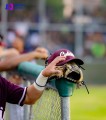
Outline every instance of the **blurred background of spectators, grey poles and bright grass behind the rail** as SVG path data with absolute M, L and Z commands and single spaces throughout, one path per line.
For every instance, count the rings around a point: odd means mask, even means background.
M 7 3 L 24 7 L 8 11 Z M 106 120 L 106 0 L 1 0 L 0 33 L 7 48 L 19 36 L 24 52 L 67 48 L 83 59 L 90 95 L 75 91 L 72 120 Z

